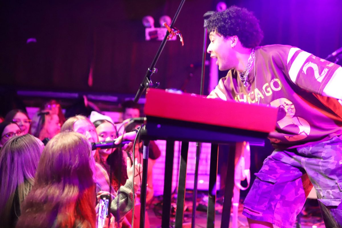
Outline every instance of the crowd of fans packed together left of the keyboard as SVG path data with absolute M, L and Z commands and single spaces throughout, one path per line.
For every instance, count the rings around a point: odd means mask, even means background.
M 125 104 L 123 123 L 94 111 L 90 118 L 66 119 L 55 100 L 44 104 L 32 119 L 25 110 L 9 111 L 0 123 L 2 227 L 95 228 L 101 195 L 111 199 L 105 227 L 131 227 L 133 207 L 134 213 L 140 213 L 140 153 L 131 157 L 132 142 L 121 148 L 91 149 L 91 143 L 134 140 L 134 128 L 123 130 L 128 122 L 124 118 L 139 117 L 140 110 Z M 135 146 L 139 151 L 141 145 Z M 160 156 L 158 147 L 152 147 L 147 202 L 153 197 L 153 161 Z M 134 220 L 134 227 L 139 227 L 139 216 Z M 148 227 L 148 216 L 145 220 Z

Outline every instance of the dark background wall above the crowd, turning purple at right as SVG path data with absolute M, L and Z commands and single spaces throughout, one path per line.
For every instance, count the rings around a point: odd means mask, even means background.
M 81 2 L 81 3 L 80 3 Z M 265 44 L 290 44 L 326 57 L 342 46 L 339 0 L 225 1 L 253 11 Z M 135 94 L 160 45 L 141 23 L 174 16 L 180 0 L 7 1 L 1 5 L 0 83 L 15 89 Z M 186 0 L 175 23 L 185 45 L 168 41 L 153 81 L 199 93 L 203 14 L 217 0 Z M 26 43 L 34 37 L 36 43 Z M 93 85 L 88 85 L 93 64 Z M 194 68 L 190 68 L 194 64 Z M 221 73 L 221 76 L 224 72 Z

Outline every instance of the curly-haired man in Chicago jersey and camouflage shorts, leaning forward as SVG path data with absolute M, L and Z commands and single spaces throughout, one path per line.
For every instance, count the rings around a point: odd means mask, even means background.
M 278 107 L 275 150 L 244 202 L 250 227 L 293 227 L 312 186 L 326 227 L 342 227 L 341 66 L 292 46 L 258 46 L 258 20 L 236 6 L 206 27 L 210 57 L 229 70 L 208 97 Z

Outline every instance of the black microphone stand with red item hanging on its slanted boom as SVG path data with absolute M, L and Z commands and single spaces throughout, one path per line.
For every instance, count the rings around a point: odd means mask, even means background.
M 182 0 L 173 19 L 170 24 L 170 28 L 173 27 L 174 23 L 176 22 L 176 19 L 184 5 L 185 0 Z M 139 89 L 134 97 L 133 102 L 137 103 L 143 94 L 144 90 L 149 88 L 149 87 L 158 87 L 159 82 L 153 83 L 151 80 L 151 76 L 153 73 L 157 72 L 157 68 L 155 68 L 156 63 L 159 59 L 159 56 L 166 44 L 166 41 L 170 35 L 170 32 L 167 31 L 166 35 L 161 42 L 159 49 L 157 51 L 156 56 L 154 57 L 150 67 L 146 71 L 146 75 L 141 82 Z M 149 140 L 143 140 L 143 177 L 142 177 L 142 184 L 141 184 L 141 195 L 140 195 L 140 201 L 141 201 L 141 208 L 140 208 L 140 228 L 145 227 L 145 211 L 146 211 L 146 186 L 147 186 L 147 163 L 148 163 L 148 146 L 149 146 Z

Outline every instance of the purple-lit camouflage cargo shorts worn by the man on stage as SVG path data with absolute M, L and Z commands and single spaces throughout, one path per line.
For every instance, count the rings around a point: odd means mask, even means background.
M 342 136 L 265 159 L 243 214 L 281 228 L 293 227 L 312 186 L 326 227 L 342 227 Z

